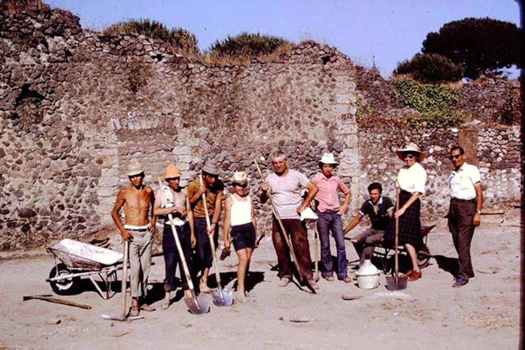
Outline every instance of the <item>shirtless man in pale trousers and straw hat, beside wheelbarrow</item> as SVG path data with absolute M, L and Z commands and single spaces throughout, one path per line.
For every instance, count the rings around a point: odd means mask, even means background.
M 151 213 L 151 223 L 148 219 L 150 204 L 155 199 L 153 189 L 144 186 L 144 170 L 139 163 L 129 167 L 128 177 L 131 185 L 120 189 L 115 205 L 111 210 L 111 217 L 117 225 L 122 239 L 130 242 L 130 279 L 131 279 L 131 312 L 130 316 L 139 315 L 139 298 L 145 296 L 148 285 L 148 274 L 151 266 L 151 248 L 153 233 L 155 232 L 155 216 Z M 119 217 L 120 208 L 124 207 L 125 222 Z M 122 281 L 126 283 L 127 281 Z M 140 309 L 155 310 L 144 300 Z

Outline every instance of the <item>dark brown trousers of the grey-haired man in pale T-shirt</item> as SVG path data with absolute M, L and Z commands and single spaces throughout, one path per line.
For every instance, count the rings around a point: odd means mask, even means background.
M 301 275 L 308 280 L 313 278 L 312 258 L 310 257 L 310 246 L 308 244 L 308 233 L 306 226 L 299 219 L 282 219 L 282 226 L 285 227 L 286 233 L 292 242 L 293 251 L 296 254 L 297 262 Z M 285 237 L 282 235 L 279 222 L 274 217 L 272 225 L 272 240 L 274 241 L 275 252 L 277 253 L 277 262 L 279 263 L 280 278 L 291 278 L 291 260 L 290 250 L 286 244 Z

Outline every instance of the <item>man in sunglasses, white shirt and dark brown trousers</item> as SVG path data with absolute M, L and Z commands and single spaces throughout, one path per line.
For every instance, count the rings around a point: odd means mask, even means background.
M 465 162 L 465 151 L 460 146 L 450 149 L 450 161 L 454 169 L 448 179 L 450 207 L 448 210 L 448 229 L 452 234 L 454 247 L 458 252 L 459 270 L 452 287 L 463 287 L 474 278 L 470 260 L 470 242 L 474 228 L 481 220 L 483 192 L 481 177 L 476 166 Z

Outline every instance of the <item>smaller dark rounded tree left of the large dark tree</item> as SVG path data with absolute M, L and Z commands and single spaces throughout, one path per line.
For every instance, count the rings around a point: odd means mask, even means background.
M 416 54 L 411 60 L 397 64 L 394 75 L 406 74 L 424 83 L 458 81 L 463 67 L 438 54 Z

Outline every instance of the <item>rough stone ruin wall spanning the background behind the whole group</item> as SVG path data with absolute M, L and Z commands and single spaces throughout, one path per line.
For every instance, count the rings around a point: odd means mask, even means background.
M 110 210 L 132 161 L 144 164 L 145 183 L 156 187 L 167 164 L 183 171 L 184 185 L 209 158 L 227 185 L 234 171 L 246 169 L 256 192 L 255 157 L 280 149 L 291 167 L 311 176 L 320 155 L 331 151 L 352 190 L 354 213 L 373 174 L 392 182 L 400 165 L 392 147 L 413 139 L 429 150 L 424 166 L 436 178 L 425 215 L 442 211 L 445 151 L 463 131 L 408 137 L 381 118 L 358 125 L 360 103 L 381 115 L 403 108 L 387 81 L 334 48 L 308 42 L 271 62 L 211 65 L 172 55 L 143 36 L 82 30 L 70 13 L 43 10 L 0 13 L 0 49 L 1 250 L 114 230 Z M 515 200 L 515 191 L 498 184 L 511 187 L 519 172 L 521 160 L 505 157 L 519 152 L 519 130 L 476 130 L 471 147 L 489 203 Z M 270 171 L 268 162 L 261 165 Z M 267 228 L 269 208 L 256 204 Z

